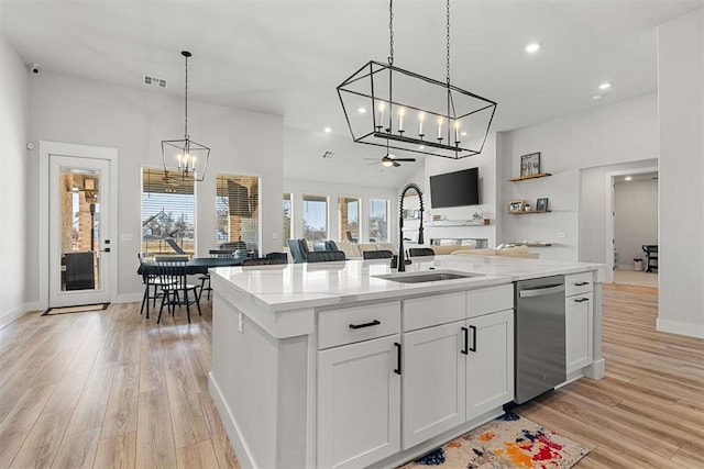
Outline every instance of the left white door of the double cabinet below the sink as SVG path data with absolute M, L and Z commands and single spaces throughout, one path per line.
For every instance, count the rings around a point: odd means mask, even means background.
M 463 325 L 404 334 L 404 449 L 464 423 Z

